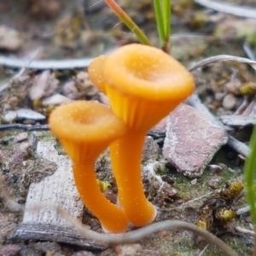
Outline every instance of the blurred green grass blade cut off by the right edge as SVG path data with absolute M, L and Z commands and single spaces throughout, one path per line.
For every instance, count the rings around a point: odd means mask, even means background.
M 247 195 L 247 203 L 250 207 L 251 216 L 253 219 L 253 225 L 256 225 L 256 197 L 255 197 L 255 172 L 256 172 L 256 125 L 253 129 L 253 135 L 250 141 L 251 153 L 247 158 L 244 170 L 244 183 Z

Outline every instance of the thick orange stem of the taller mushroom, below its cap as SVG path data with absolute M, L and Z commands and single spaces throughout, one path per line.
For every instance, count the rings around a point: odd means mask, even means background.
M 127 132 L 110 145 L 113 174 L 119 188 L 119 204 L 125 216 L 137 227 L 151 223 L 156 209 L 143 191 L 141 156 L 146 134 Z

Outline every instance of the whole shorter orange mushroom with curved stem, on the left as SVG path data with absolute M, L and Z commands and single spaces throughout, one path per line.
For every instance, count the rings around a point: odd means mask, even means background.
M 49 127 L 73 160 L 74 181 L 84 205 L 99 218 L 104 230 L 124 232 L 128 220 L 123 210 L 102 194 L 94 168 L 98 155 L 124 135 L 124 123 L 101 103 L 77 101 L 56 108 Z

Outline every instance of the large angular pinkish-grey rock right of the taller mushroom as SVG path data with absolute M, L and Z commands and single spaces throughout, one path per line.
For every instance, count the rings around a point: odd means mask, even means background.
M 183 175 L 200 177 L 227 140 L 224 131 L 194 108 L 182 104 L 169 115 L 163 155 Z

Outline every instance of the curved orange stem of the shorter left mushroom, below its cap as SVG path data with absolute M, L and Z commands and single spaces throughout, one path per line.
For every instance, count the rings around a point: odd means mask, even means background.
M 84 172 L 85 171 L 85 172 Z M 93 161 L 73 163 L 73 177 L 84 205 L 101 220 L 102 229 L 111 233 L 123 233 L 127 218 L 122 209 L 108 201 L 96 182 Z

